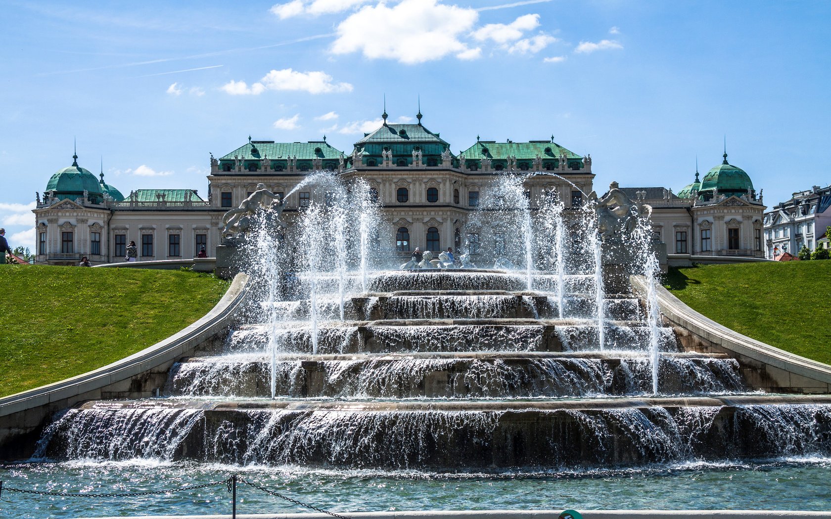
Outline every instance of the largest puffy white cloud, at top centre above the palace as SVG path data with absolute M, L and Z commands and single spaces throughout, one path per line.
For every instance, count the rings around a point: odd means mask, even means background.
M 370 59 L 407 64 L 465 55 L 469 49 L 459 38 L 470 32 L 478 17 L 474 9 L 437 0 L 402 0 L 392 7 L 380 2 L 362 7 L 337 26 L 332 52 L 361 52 Z

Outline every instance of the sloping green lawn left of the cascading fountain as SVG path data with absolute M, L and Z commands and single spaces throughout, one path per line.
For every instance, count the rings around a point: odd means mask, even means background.
M 0 396 L 81 375 L 199 320 L 229 282 L 140 268 L 0 266 Z

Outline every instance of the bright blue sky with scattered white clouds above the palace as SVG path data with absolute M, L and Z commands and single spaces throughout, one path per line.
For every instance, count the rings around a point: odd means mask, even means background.
M 320 140 L 386 111 L 458 154 L 543 140 L 595 189 L 678 192 L 721 163 L 766 205 L 831 184 L 831 2 L 0 0 L 0 227 L 72 162 L 122 193 L 198 189 L 209 153 Z M 103 163 L 103 166 L 101 165 Z

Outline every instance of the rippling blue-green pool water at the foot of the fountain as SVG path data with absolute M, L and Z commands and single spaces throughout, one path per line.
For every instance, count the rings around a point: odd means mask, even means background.
M 382 472 L 195 463 L 21 463 L 3 487 L 45 492 L 145 492 L 223 480 L 251 482 L 332 512 L 578 509 L 831 509 L 831 458 L 684 463 L 582 472 Z M 308 512 L 243 484 L 238 513 Z M 0 516 L 107 517 L 230 512 L 224 485 L 162 496 L 81 498 L 2 492 Z

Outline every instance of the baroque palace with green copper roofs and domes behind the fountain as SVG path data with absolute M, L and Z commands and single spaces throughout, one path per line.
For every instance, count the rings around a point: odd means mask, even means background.
M 249 137 L 248 143 L 229 154 L 211 156 L 205 198 L 196 189 L 138 189 L 125 196 L 105 183 L 103 173 L 96 179 L 73 156 L 71 166 L 52 175 L 33 210 L 37 262 L 72 265 L 82 256 L 94 264 L 120 262 L 130 241 L 139 249 L 139 261 L 195 257 L 201 247 L 213 257 L 222 239 L 224 213 L 238 207 L 257 184 L 285 195 L 320 169 L 337 171 L 345 179 L 366 180 L 380 199 L 394 239 L 390 249 L 398 259 L 409 257 L 415 247 L 433 251 L 459 247 L 465 223 L 478 208 L 483 191 L 504 172 L 543 173 L 525 184 L 532 208 L 546 192 L 556 190 L 565 207 L 571 208 L 581 205 L 583 193 L 593 190 L 591 156 L 574 154 L 553 138 L 495 142 L 477 137 L 468 149 L 452 154 L 439 133 L 421 124 L 420 113 L 417 124 L 387 124 L 386 112 L 382 117 L 383 125 L 358 140 L 349 154 L 333 148 L 325 137 L 293 143 Z M 669 192 L 661 196 L 663 203 L 653 199 L 654 188 L 627 192 L 632 200 L 655 208 L 653 227 L 669 252 L 676 250 L 671 242 L 681 238 L 677 233 L 686 232 L 690 233 L 684 237 L 689 240 L 686 253 L 753 256 L 755 220 L 758 217 L 761 223 L 764 206 L 752 184 L 750 189 L 743 186 L 741 193 L 725 191 L 725 179 L 726 175 L 716 178 L 706 189 L 701 185 L 687 189 L 687 198 Z M 297 190 L 283 200 L 283 214 L 291 220 L 292 213 L 312 201 L 322 202 L 325 196 L 313 187 Z M 708 225 L 711 234 L 702 234 L 702 241 L 696 242 L 695 233 Z M 736 227 L 738 237 L 730 231 Z M 710 249 L 705 240 L 711 240 Z

